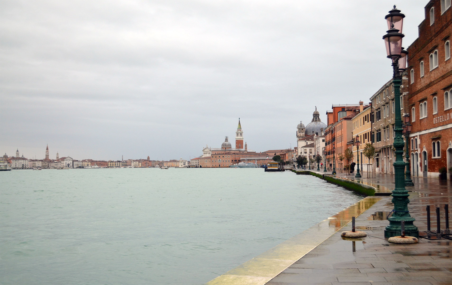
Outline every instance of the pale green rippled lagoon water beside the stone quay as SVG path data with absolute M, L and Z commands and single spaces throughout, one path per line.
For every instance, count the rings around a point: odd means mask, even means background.
M 362 199 L 261 168 L 0 179 L 1 284 L 203 284 Z

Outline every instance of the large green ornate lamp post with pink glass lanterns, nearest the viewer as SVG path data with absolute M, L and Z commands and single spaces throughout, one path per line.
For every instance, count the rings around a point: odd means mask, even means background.
M 392 190 L 392 200 L 394 204 L 393 212 L 394 214 L 388 218 L 389 225 L 385 228 L 385 237 L 395 237 L 401 234 L 401 222 L 405 222 L 405 236 L 419 237 L 419 230 L 414 226 L 414 218 L 411 218 L 410 212 L 408 211 L 408 190 L 405 189 L 405 179 L 404 179 L 404 168 L 405 162 L 403 162 L 403 147 L 404 142 L 402 138 L 402 120 L 400 117 L 400 81 L 402 74 L 400 70 L 405 69 L 406 66 L 406 55 L 405 62 L 403 62 L 401 47 L 402 38 L 404 35 L 402 32 L 402 24 L 404 14 L 400 13 L 400 10 L 392 9 L 389 14 L 386 15 L 385 19 L 388 24 L 388 31 L 386 35 L 383 36 L 386 45 L 387 57 L 392 60 L 393 69 L 393 80 L 394 84 L 394 101 L 395 101 L 395 138 L 394 138 L 394 148 L 395 148 L 395 161 L 393 163 L 395 171 L 395 187 Z M 400 61 L 400 65 L 399 65 Z

